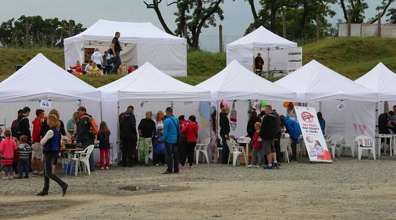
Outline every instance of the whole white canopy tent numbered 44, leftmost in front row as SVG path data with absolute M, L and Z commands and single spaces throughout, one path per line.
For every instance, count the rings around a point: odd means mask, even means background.
M 66 126 L 79 106 L 85 106 L 100 121 L 100 91 L 38 54 L 22 68 L 0 83 L 0 115 L 6 128 L 17 116 L 18 109 L 31 109 L 29 120 L 34 119 L 40 100 L 51 101 Z M 46 109 L 44 109 L 46 110 Z

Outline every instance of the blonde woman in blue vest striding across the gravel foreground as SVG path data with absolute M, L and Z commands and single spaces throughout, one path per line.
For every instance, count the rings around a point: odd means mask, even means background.
M 49 130 L 46 135 L 40 141 L 40 144 L 43 145 L 43 160 L 44 160 L 44 188 L 43 191 L 39 192 L 38 196 L 46 196 L 48 195 L 49 190 L 49 178 L 53 181 L 57 182 L 60 187 L 62 187 L 62 196 L 65 196 L 67 193 L 67 189 L 69 187 L 68 184 L 63 182 L 58 176 L 51 172 L 51 166 L 53 161 L 56 160 L 59 149 L 59 127 L 60 122 L 55 114 L 49 114 L 47 119 L 47 124 L 49 126 Z

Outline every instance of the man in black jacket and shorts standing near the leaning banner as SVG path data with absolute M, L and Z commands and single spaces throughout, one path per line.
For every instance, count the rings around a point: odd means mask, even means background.
M 273 169 L 272 160 L 274 160 L 274 166 L 279 168 L 276 160 L 276 151 L 274 146 L 274 139 L 276 138 L 276 117 L 272 114 L 272 107 L 270 105 L 264 108 L 265 115 L 261 122 L 260 138 L 262 139 L 263 149 L 261 151 L 261 161 L 264 161 L 264 155 L 268 160 L 268 165 L 264 166 L 264 169 Z

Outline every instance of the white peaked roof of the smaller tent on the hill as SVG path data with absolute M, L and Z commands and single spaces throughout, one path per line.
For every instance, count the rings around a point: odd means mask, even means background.
M 227 50 L 236 48 L 249 48 L 252 50 L 261 48 L 296 48 L 297 43 L 289 41 L 283 37 L 280 37 L 271 31 L 260 26 L 253 32 L 246 36 L 227 44 Z

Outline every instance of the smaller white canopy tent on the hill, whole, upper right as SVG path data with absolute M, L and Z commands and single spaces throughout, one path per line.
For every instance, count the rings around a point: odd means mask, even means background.
M 301 66 L 302 50 L 297 47 L 297 43 L 282 38 L 263 26 L 227 44 L 227 65 L 236 59 L 252 71 L 256 53 L 261 53 L 263 57 L 263 71 L 279 70 L 288 73 Z

